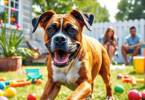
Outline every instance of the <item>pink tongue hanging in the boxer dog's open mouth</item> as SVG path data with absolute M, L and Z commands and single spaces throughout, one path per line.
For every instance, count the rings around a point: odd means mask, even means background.
M 68 57 L 69 55 L 66 54 L 66 55 L 63 55 L 62 58 L 59 56 L 59 55 L 55 55 L 54 57 L 54 60 L 57 62 L 57 63 L 66 63 L 68 61 Z

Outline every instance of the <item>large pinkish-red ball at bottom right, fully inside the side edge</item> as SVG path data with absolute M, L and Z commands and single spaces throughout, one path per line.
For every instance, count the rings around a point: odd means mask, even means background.
M 129 100 L 141 100 L 141 94 L 138 90 L 131 90 L 128 93 Z

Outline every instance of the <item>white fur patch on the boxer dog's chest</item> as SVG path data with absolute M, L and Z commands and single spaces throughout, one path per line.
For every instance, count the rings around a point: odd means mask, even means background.
M 53 82 L 59 82 L 65 85 L 71 90 L 75 90 L 77 86 L 75 85 L 76 80 L 79 78 L 79 69 L 81 68 L 81 62 L 76 58 L 69 66 L 65 68 L 58 68 L 53 65 Z

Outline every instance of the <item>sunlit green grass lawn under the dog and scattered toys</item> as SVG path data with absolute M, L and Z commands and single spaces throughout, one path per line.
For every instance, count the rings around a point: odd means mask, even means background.
M 37 99 L 39 100 L 45 83 L 47 81 L 47 71 L 46 71 L 46 66 L 27 66 L 21 68 L 21 70 L 25 70 L 25 68 L 34 68 L 34 67 L 39 67 L 40 70 L 43 71 L 43 84 L 42 85 L 28 85 L 28 86 L 23 86 L 23 87 L 16 87 L 17 94 L 15 97 L 9 98 L 9 100 L 26 100 L 27 95 L 30 93 L 35 93 L 37 95 Z M 142 92 L 145 87 L 143 83 L 138 83 L 136 86 L 132 86 L 130 83 L 122 83 L 121 80 L 118 80 L 117 74 L 122 74 L 122 75 L 129 75 L 129 76 L 134 76 L 135 78 L 142 79 L 143 74 L 135 74 L 134 69 L 132 66 L 127 66 L 126 70 L 115 70 L 111 71 L 112 74 L 112 84 L 113 84 L 113 95 L 115 100 L 128 100 L 128 93 L 131 89 L 137 89 L 140 92 Z M 16 79 L 27 79 L 26 74 L 19 74 L 17 72 L 0 72 L 0 77 L 6 77 L 7 80 L 16 80 Z M 121 84 L 125 88 L 124 93 L 115 93 L 114 92 L 114 87 L 115 85 Z M 8 88 L 7 86 L 6 88 Z M 5 90 L 3 90 L 5 91 Z M 71 90 L 67 89 L 66 87 L 62 86 L 61 91 L 59 92 L 57 98 L 55 100 L 65 100 L 67 96 L 69 96 L 72 93 Z M 94 98 L 91 100 L 105 100 L 106 96 L 106 88 L 105 84 L 98 75 L 95 79 L 95 87 L 94 87 Z

